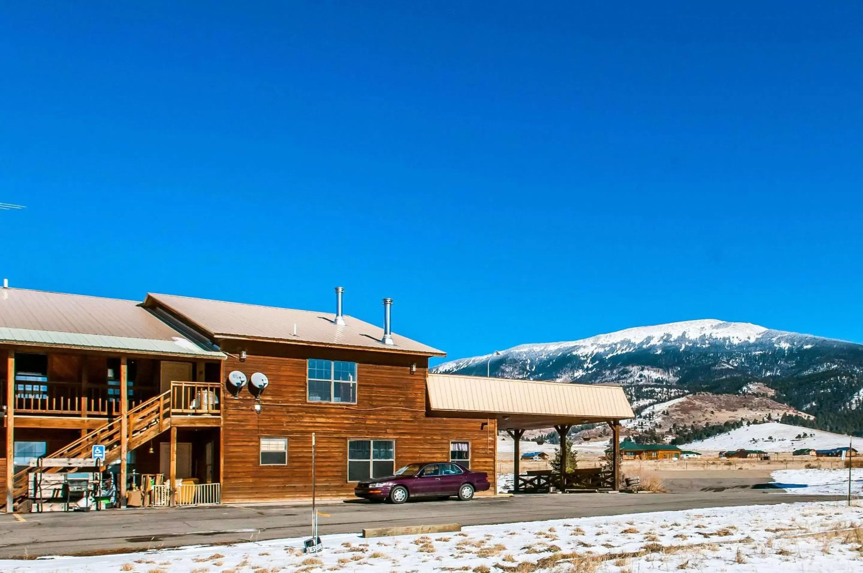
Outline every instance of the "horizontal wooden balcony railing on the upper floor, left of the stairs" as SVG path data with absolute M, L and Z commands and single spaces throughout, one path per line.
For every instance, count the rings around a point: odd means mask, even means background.
M 114 416 L 120 413 L 120 397 L 110 394 L 116 390 L 107 386 L 83 387 L 75 382 L 22 382 L 15 383 L 15 412 L 21 414 L 65 414 L 87 416 Z M 141 404 L 142 398 L 130 398 L 129 409 Z

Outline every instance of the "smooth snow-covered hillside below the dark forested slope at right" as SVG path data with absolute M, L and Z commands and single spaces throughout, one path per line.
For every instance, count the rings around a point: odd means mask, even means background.
M 808 434 L 808 438 L 796 438 L 799 434 Z M 813 436 L 814 434 L 814 436 Z M 696 451 L 724 451 L 740 450 L 765 450 L 771 452 L 788 452 L 801 448 L 813 448 L 816 450 L 828 450 L 829 448 L 841 448 L 848 445 L 850 436 L 833 434 L 829 431 L 811 430 L 799 425 L 779 424 L 768 422 L 766 424 L 744 425 L 736 430 L 719 434 L 706 440 L 692 442 L 681 446 L 683 450 Z M 860 439 L 854 442 L 858 445 Z

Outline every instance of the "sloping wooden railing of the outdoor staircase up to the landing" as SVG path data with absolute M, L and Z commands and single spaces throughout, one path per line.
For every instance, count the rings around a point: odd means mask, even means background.
M 171 427 L 171 390 L 142 402 L 127 412 L 129 419 L 128 450 L 134 450 L 149 439 L 155 438 L 162 431 Z M 105 446 L 104 463 L 108 464 L 120 457 L 121 419 L 99 426 L 60 450 L 49 458 L 82 458 L 90 457 L 94 445 Z M 63 468 L 25 468 L 16 473 L 13 478 L 13 496 L 16 501 L 25 497 L 29 488 L 29 475 L 34 473 L 55 473 Z

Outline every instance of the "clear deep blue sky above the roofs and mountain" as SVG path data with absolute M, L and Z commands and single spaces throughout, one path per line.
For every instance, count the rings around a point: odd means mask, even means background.
M 863 342 L 863 3 L 175 4 L 0 8 L 13 286 Z

